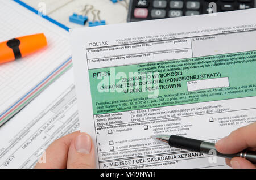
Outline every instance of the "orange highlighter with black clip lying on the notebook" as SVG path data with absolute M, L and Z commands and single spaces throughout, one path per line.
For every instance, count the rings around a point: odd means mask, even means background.
M 23 58 L 47 46 L 43 33 L 28 35 L 0 43 L 0 64 Z

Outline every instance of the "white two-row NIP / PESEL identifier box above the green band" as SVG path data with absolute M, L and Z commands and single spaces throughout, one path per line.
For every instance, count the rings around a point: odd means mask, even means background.
M 160 40 L 86 49 L 88 68 L 132 65 L 191 58 L 191 38 Z

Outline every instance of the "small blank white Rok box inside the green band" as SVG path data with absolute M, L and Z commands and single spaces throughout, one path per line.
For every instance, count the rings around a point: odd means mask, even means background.
M 188 91 L 197 91 L 202 89 L 229 87 L 229 78 L 214 78 L 203 80 L 192 80 L 187 82 Z

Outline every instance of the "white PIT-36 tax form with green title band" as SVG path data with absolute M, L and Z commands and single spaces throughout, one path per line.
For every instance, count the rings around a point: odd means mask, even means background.
M 256 121 L 256 9 L 71 29 L 81 131 L 98 168 L 226 168 L 155 142 Z

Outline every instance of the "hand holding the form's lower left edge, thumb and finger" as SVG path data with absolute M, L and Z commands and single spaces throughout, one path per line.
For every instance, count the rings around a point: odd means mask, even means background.
M 80 131 L 57 139 L 46 149 L 46 163 L 37 163 L 37 169 L 95 168 L 94 145 L 90 136 Z

